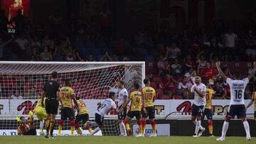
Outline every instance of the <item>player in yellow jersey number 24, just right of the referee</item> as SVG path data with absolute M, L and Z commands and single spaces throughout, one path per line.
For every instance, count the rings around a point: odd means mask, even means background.
M 75 131 L 75 113 L 73 110 L 73 103 L 74 101 L 75 105 L 78 106 L 77 101 L 75 101 L 74 91 L 70 87 L 70 81 L 68 79 L 65 80 L 65 87 L 62 87 L 60 89 L 60 97 L 63 101 L 63 109 L 61 109 L 61 116 L 58 126 L 58 134 L 61 135 L 61 131 L 63 128 L 64 121 L 67 120 L 67 118 L 70 120 L 70 129 L 71 129 L 71 135 L 74 135 Z

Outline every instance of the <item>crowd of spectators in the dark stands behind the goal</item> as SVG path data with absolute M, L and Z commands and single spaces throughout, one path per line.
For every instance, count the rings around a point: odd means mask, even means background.
M 236 33 L 232 26 L 213 26 L 208 33 L 184 30 L 174 34 L 168 28 L 148 26 L 128 37 L 115 38 L 110 16 L 111 11 L 104 8 L 98 16 L 102 24 L 94 26 L 87 18 L 71 14 L 67 28 L 60 26 L 63 18 L 49 16 L 48 23 L 33 23 L 27 31 L 26 18 L 21 13 L 6 21 L 1 11 L 0 60 L 156 62 L 158 73 L 149 77 L 158 99 L 191 99 L 189 88 L 196 75 L 203 82 L 210 82 L 214 99 L 230 99 L 229 87 L 218 76 L 215 62 L 255 60 L 253 28 Z M 8 28 L 11 23 L 16 28 Z M 232 77 L 228 67 L 223 69 Z M 253 86 L 254 81 L 246 89 L 246 99 L 250 99 Z

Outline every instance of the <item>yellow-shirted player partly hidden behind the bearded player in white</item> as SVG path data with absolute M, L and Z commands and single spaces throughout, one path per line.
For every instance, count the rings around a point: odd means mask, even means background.
M 206 82 L 206 107 L 203 111 L 203 118 L 206 116 L 208 119 L 209 135 L 213 136 L 213 106 L 211 100 L 213 99 L 214 91 L 210 88 L 209 82 Z

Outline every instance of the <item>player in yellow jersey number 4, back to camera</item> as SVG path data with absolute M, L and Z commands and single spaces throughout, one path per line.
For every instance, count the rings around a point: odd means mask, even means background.
M 129 121 L 135 116 L 137 119 L 137 123 L 139 126 L 139 129 L 141 133 L 142 131 L 142 125 L 141 125 L 141 111 L 142 111 L 142 92 L 139 92 L 139 84 L 134 84 L 134 92 L 130 94 L 129 98 L 127 101 L 125 101 L 124 105 L 121 107 L 119 113 L 122 113 L 124 111 L 124 107 L 129 104 L 131 101 L 130 109 L 127 113 L 127 116 L 124 119 L 124 123 L 127 129 L 128 135 L 132 135 L 132 131 L 130 130 L 129 127 Z

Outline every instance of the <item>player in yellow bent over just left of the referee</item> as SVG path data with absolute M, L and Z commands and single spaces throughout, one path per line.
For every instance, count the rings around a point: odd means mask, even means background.
M 43 135 L 43 123 L 47 119 L 46 108 L 44 107 L 46 105 L 46 97 L 43 98 L 43 103 L 41 103 L 41 101 L 42 99 L 38 100 L 35 109 L 33 109 L 33 113 L 36 114 L 38 120 L 40 121 L 40 135 Z

